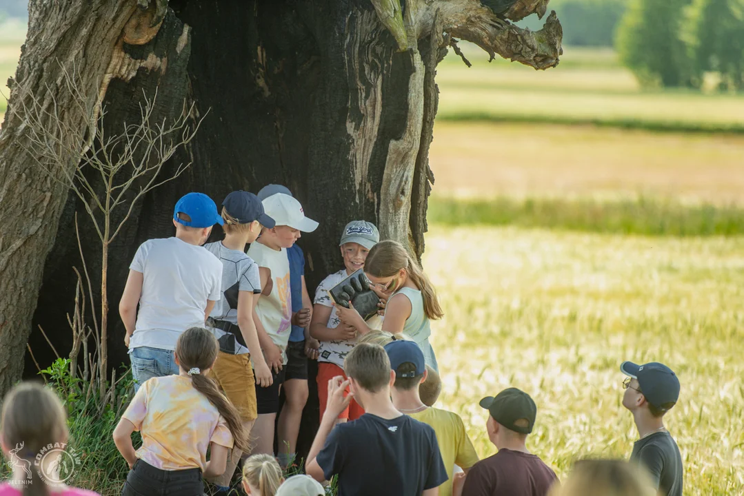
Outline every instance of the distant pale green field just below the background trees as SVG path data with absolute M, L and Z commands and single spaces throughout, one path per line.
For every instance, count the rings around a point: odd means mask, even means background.
M 449 54 L 437 69 L 439 120 L 594 123 L 652 130 L 744 132 L 744 97 L 699 91 L 641 91 L 607 50 L 565 48 L 548 71 L 494 60 L 464 45 L 467 68 Z

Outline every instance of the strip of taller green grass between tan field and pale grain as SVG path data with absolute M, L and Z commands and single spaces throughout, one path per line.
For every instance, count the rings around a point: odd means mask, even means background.
M 452 199 L 429 202 L 429 222 L 443 225 L 516 225 L 650 236 L 744 234 L 744 209 L 648 199 Z

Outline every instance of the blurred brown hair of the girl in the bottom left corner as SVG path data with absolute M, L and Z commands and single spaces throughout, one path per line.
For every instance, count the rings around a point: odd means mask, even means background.
M 13 457 L 28 461 L 31 471 L 31 483 L 23 486 L 23 496 L 49 495 L 39 474 L 41 464 L 36 465 L 33 460 L 46 445 L 67 440 L 66 420 L 60 399 L 39 384 L 19 384 L 5 396 L 0 426 L 3 444 Z

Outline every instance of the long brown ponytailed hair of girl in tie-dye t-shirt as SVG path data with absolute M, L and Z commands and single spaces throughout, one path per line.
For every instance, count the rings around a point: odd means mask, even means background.
M 193 371 L 190 376 L 194 389 L 206 396 L 214 408 L 217 408 L 219 414 L 224 417 L 233 436 L 235 448 L 244 452 L 250 451 L 248 435 L 243 428 L 243 421 L 240 419 L 237 408 L 225 398 L 212 379 L 202 374 L 202 370 L 212 367 L 214 361 L 217 360 L 218 351 L 217 339 L 211 332 L 201 327 L 187 329 L 179 336 L 179 341 L 176 343 L 176 354 L 179 357 L 180 366 L 185 370 Z

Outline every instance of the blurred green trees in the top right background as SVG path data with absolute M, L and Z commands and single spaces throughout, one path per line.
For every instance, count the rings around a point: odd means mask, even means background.
M 565 46 L 614 47 L 644 86 L 744 89 L 744 0 L 552 0 Z M 537 29 L 536 20 L 525 25 Z M 530 25 L 533 23 L 533 25 Z

